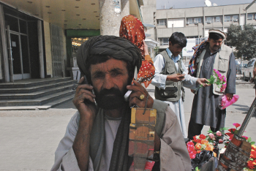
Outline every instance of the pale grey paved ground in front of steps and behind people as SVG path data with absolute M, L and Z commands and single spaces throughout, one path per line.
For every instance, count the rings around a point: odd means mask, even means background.
M 154 96 L 154 87 L 149 86 Z M 189 123 L 193 94 L 186 89 L 184 103 L 187 124 Z M 242 123 L 255 99 L 255 89 L 237 88 L 238 102 L 227 108 L 226 126 Z M 67 123 L 75 113 L 72 102 L 49 110 L 0 111 L 0 170 L 50 170 L 54 151 L 63 137 Z M 253 116 L 244 135 L 256 140 L 256 118 Z M 203 133 L 206 134 L 208 126 Z

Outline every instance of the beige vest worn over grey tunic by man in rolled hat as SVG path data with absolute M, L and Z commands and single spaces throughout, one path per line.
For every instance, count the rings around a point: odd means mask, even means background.
M 222 44 L 221 49 L 217 52 L 215 61 L 214 61 L 214 69 L 217 69 L 221 75 L 227 77 L 227 71 L 229 69 L 230 64 L 230 54 L 232 53 L 232 48 L 227 45 Z M 201 66 L 203 64 L 203 57 L 206 54 L 206 49 L 200 54 L 199 58 L 197 58 L 197 77 L 200 76 Z M 220 87 L 216 84 L 213 86 L 213 92 L 217 95 L 225 94 L 225 92 L 220 91 Z

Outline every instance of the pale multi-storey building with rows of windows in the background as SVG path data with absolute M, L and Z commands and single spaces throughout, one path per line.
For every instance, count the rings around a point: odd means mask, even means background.
M 225 32 L 230 24 L 240 26 L 252 24 L 256 28 L 256 4 L 244 11 L 248 5 L 156 9 L 156 1 L 148 0 L 141 7 L 141 11 L 143 20 L 156 26 L 155 30 L 150 32 L 151 37 L 148 38 L 159 42 L 161 51 L 168 47 L 168 39 L 176 31 L 184 33 L 188 39 L 195 38 L 197 44 L 202 39 L 207 39 L 208 30 L 211 28 Z

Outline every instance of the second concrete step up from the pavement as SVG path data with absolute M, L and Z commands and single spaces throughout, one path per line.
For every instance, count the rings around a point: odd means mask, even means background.
M 10 106 L 40 106 L 43 104 L 47 104 L 58 99 L 67 98 L 68 96 L 74 96 L 75 91 L 73 90 L 65 90 L 55 94 L 49 94 L 47 96 L 42 96 L 37 99 L 1 99 L 0 107 L 10 107 Z

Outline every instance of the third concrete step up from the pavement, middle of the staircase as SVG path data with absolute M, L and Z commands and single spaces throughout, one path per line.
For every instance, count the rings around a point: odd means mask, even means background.
M 0 99 L 11 100 L 11 99 L 38 99 L 42 96 L 48 96 L 50 94 L 56 94 L 61 91 L 71 90 L 73 85 L 60 86 L 57 88 L 48 88 L 42 91 L 36 91 L 29 94 L 0 94 Z

